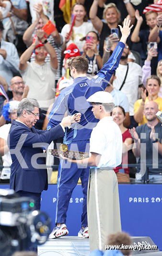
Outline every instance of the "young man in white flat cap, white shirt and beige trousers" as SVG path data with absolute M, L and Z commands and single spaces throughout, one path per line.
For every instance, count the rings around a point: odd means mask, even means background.
M 89 158 L 71 160 L 90 166 L 87 192 L 87 212 L 90 250 L 105 250 L 108 234 L 121 232 L 120 205 L 116 173 L 113 170 L 122 161 L 122 134 L 111 117 L 115 104 L 112 95 L 99 91 L 87 99 L 100 121 L 90 138 Z

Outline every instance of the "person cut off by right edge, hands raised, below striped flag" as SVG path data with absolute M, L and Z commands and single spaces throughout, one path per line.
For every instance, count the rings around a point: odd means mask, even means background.
M 149 42 L 158 43 L 158 61 L 162 60 L 162 14 L 157 16 L 157 23 L 154 28 L 150 31 Z

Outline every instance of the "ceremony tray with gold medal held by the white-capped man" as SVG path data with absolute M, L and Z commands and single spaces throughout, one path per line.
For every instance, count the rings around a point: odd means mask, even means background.
M 64 157 L 70 158 L 70 159 L 73 159 L 73 160 L 89 158 L 89 153 L 88 152 L 80 152 L 80 151 L 69 150 L 68 145 L 66 145 L 66 144 L 61 144 L 59 146 L 59 149 L 49 149 L 48 154 L 56 156 L 56 157 L 59 157 L 60 154 L 61 154 Z

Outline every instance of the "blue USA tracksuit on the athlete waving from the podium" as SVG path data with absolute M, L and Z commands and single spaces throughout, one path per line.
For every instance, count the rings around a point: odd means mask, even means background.
M 67 111 L 68 115 L 81 112 L 81 122 L 68 129 L 64 137 L 64 143 L 69 149 L 89 152 L 89 139 L 93 127 L 99 121 L 94 118 L 92 106 L 86 101 L 97 91 L 106 88 L 107 82 L 119 65 L 120 57 L 125 44 L 119 42 L 109 60 L 104 64 L 99 73 L 92 79 L 77 77 L 73 84 L 60 92 L 49 114 L 47 130 L 61 122 Z M 87 227 L 87 184 L 89 168 L 79 168 L 76 164 L 60 161 L 58 170 L 58 200 L 56 208 L 56 223 L 66 223 L 66 213 L 73 189 L 81 177 L 83 192 L 83 209 L 81 215 L 81 226 Z M 66 225 L 63 226 L 66 229 Z M 68 232 L 69 233 L 69 232 Z M 62 235 L 68 234 L 62 232 Z M 57 237 L 61 236 L 61 233 Z M 55 238 L 55 234 L 49 238 Z M 81 237 L 81 236 L 80 236 Z M 83 236 L 85 237 L 85 236 Z

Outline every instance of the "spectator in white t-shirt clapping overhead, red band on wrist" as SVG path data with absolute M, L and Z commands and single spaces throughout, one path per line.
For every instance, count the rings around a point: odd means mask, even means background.
M 35 41 L 22 54 L 20 58 L 20 71 L 24 81 L 29 85 L 29 98 L 38 100 L 40 108 L 47 110 L 55 100 L 55 76 L 58 68 L 58 61 L 55 49 L 45 40 L 44 32 L 36 31 Z M 41 40 L 41 41 L 40 41 Z M 35 50 L 35 62 L 29 62 L 30 56 Z M 45 62 L 49 53 L 50 62 Z M 41 127 L 45 115 L 41 116 Z

